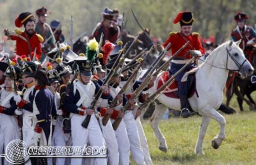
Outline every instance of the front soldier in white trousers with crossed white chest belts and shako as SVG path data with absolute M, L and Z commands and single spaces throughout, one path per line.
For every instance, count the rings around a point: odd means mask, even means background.
M 92 66 L 87 57 L 75 59 L 79 66 L 78 78 L 71 85 L 68 96 L 64 99 L 63 108 L 71 114 L 71 135 L 73 146 L 87 145 L 104 147 L 105 142 L 97 114 L 90 109 L 93 96 L 100 90 L 100 86 L 91 81 Z M 109 93 L 103 93 L 106 96 Z M 104 99 L 104 98 L 103 98 Z M 91 115 L 88 128 L 81 126 L 87 115 Z M 97 165 L 107 165 L 106 158 L 95 158 Z M 71 158 L 71 165 L 82 165 L 82 158 Z

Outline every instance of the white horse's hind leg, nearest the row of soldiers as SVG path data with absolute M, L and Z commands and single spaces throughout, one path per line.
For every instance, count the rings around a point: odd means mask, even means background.
M 162 134 L 162 132 L 159 129 L 159 122 L 162 119 L 163 114 L 166 112 L 167 107 L 164 106 L 163 104 L 157 104 L 155 103 L 155 111 L 151 118 L 149 119 L 149 123 L 155 132 L 155 137 L 159 142 L 159 150 L 163 152 L 167 152 L 167 144 L 166 140 Z

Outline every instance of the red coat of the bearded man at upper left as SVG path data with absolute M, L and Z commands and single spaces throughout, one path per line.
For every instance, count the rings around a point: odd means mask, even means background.
M 20 34 L 21 36 L 23 36 L 25 39 L 25 33 L 23 31 L 15 31 L 15 33 Z M 29 37 L 29 35 L 27 35 Z M 17 36 L 11 36 L 10 37 L 11 40 L 16 40 L 16 53 L 17 55 L 26 55 L 28 57 L 28 55 L 30 54 L 27 42 L 25 40 L 22 40 L 21 38 L 17 37 Z M 30 42 L 30 46 L 32 49 L 32 52 L 34 52 L 35 48 L 36 48 L 36 59 L 41 59 L 41 55 L 42 55 L 42 50 L 41 50 L 41 45 L 40 43 L 42 43 L 44 40 L 42 38 L 42 36 L 40 36 L 40 34 L 36 34 L 34 33 L 34 35 L 32 37 L 29 38 L 29 42 Z M 33 56 L 31 57 L 31 59 L 33 59 Z

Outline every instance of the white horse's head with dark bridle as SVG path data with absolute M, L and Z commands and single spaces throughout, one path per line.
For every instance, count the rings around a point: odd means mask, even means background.
M 245 58 L 243 50 L 239 47 L 241 40 L 233 42 L 229 41 L 226 46 L 227 60 L 226 68 L 237 71 L 242 78 L 250 76 L 254 73 L 254 68 Z

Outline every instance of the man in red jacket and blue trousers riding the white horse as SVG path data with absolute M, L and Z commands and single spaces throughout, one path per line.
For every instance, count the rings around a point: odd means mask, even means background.
M 190 59 L 192 55 L 188 53 L 192 50 L 196 55 L 201 56 L 204 54 L 204 49 L 199 39 L 199 34 L 192 33 L 192 23 L 194 21 L 193 14 L 191 12 L 180 12 L 174 20 L 174 23 L 180 22 L 180 32 L 171 32 L 166 42 L 163 44 L 164 47 L 171 43 L 172 54 L 177 52 L 186 42 L 189 41 L 189 46 L 182 50 L 171 62 L 170 62 L 170 75 L 177 73 Z M 188 82 L 181 82 L 183 75 L 190 69 L 195 67 L 195 64 L 190 64 L 187 68 L 180 73 L 175 80 L 178 83 L 179 97 L 181 100 L 181 116 L 188 118 L 193 115 L 194 112 L 189 111 L 189 100 L 188 100 Z

